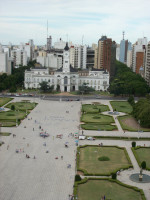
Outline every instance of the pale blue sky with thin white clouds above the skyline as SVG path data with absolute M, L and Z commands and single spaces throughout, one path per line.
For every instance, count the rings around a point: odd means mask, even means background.
M 62 38 L 73 44 L 98 43 L 102 35 L 117 43 L 150 39 L 150 0 L 0 0 L 0 43 L 37 45 Z

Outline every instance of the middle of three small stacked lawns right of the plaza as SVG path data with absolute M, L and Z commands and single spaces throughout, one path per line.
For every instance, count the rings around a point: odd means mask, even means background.
M 100 124 L 111 124 L 114 123 L 114 119 L 112 116 L 108 115 L 103 115 L 103 114 L 83 114 L 81 117 L 82 122 L 95 122 L 95 123 L 100 123 Z

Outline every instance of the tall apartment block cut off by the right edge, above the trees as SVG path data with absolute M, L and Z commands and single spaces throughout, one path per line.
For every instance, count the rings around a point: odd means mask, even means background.
M 145 80 L 150 86 L 150 42 L 148 43 L 146 48 Z

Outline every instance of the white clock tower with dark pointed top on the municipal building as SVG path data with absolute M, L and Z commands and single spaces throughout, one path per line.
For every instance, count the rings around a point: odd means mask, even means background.
M 63 72 L 68 73 L 70 72 L 70 64 L 69 64 L 69 47 L 68 42 L 66 43 L 66 46 L 64 48 L 63 52 Z

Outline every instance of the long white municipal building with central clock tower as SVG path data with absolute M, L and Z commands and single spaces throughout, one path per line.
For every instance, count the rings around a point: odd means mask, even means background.
M 102 69 L 81 70 L 73 68 L 69 62 L 69 47 L 63 52 L 63 66 L 50 71 L 49 68 L 31 68 L 25 71 L 24 87 L 39 88 L 39 83 L 46 81 L 49 85 L 54 85 L 54 89 L 61 92 L 78 91 L 79 86 L 87 83 L 97 91 L 105 91 L 109 87 L 109 73 Z

